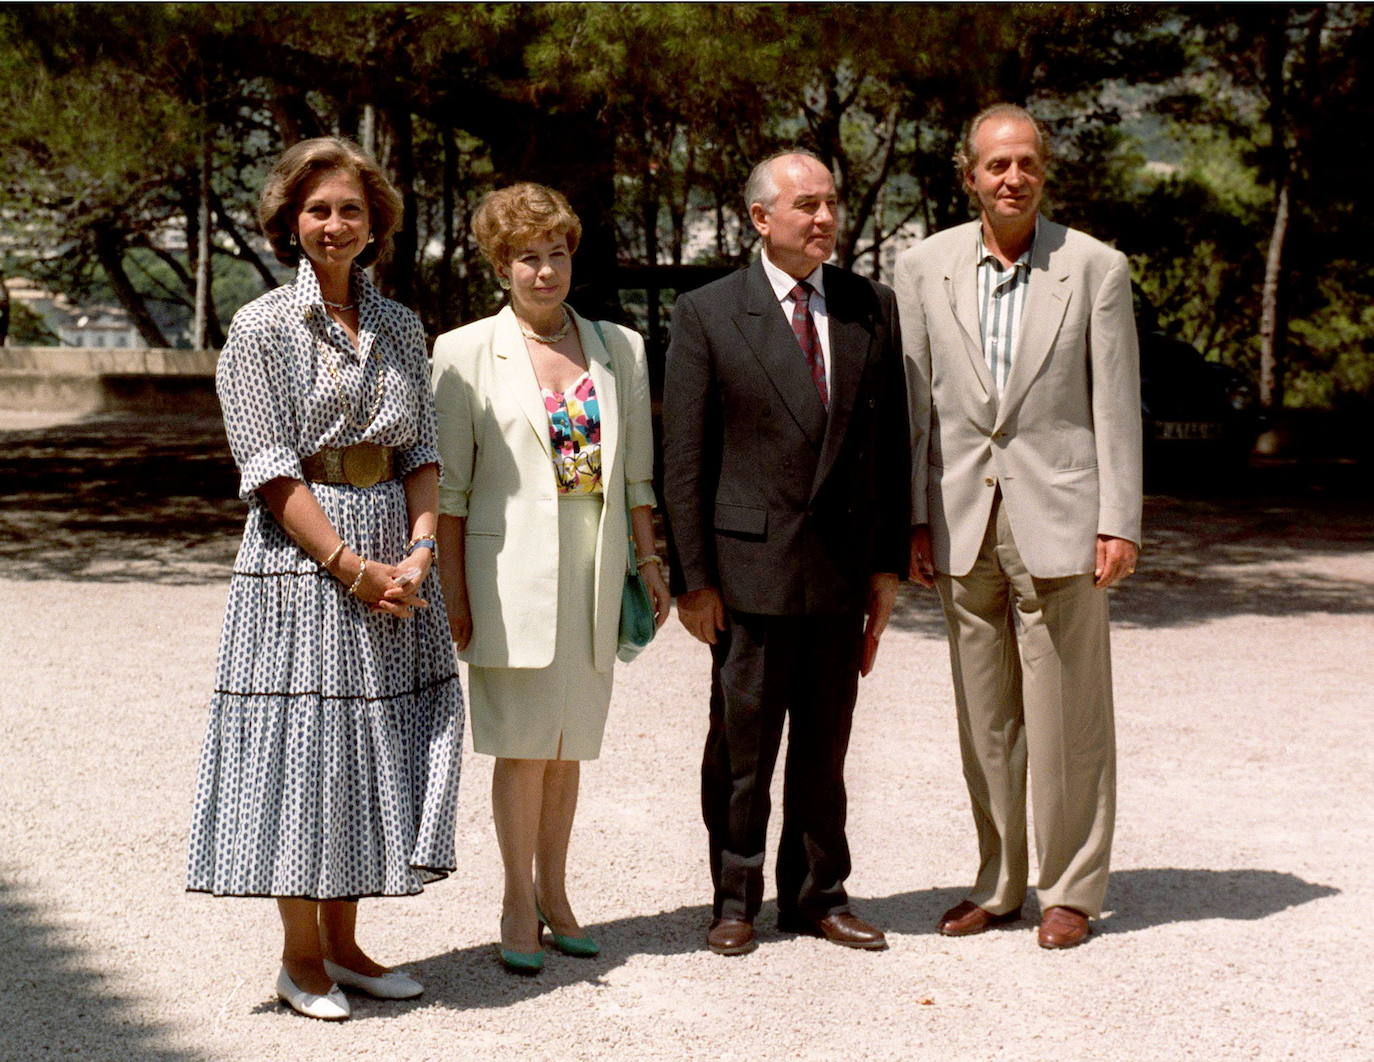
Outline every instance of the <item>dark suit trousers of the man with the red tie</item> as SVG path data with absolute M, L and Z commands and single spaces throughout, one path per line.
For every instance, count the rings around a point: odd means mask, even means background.
M 763 903 L 769 782 L 789 720 L 778 910 L 848 910 L 845 753 L 859 691 L 863 615 L 728 613 L 712 647 L 710 731 L 701 768 L 717 918 Z

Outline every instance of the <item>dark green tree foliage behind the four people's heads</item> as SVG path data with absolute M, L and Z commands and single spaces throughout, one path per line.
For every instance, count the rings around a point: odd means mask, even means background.
M 371 143 L 405 195 L 379 280 L 431 331 L 492 308 L 471 213 L 521 179 L 572 196 L 578 286 L 606 298 L 617 261 L 747 260 L 745 177 L 800 143 L 835 170 L 841 262 L 877 273 L 894 234 L 970 216 L 949 159 L 1007 99 L 1051 129 L 1051 214 L 1250 374 L 1292 174 L 1287 401 L 1370 401 L 1374 278 L 1349 250 L 1374 225 L 1370 56 L 1360 4 L 7 5 L 0 273 L 184 315 L 209 137 L 227 320 L 273 276 L 267 165 L 324 133 Z

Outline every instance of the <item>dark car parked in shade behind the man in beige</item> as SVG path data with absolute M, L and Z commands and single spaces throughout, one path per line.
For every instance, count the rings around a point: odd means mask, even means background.
M 1249 381 L 1165 332 L 1139 289 L 1135 324 L 1140 339 L 1146 482 L 1242 474 L 1259 434 Z

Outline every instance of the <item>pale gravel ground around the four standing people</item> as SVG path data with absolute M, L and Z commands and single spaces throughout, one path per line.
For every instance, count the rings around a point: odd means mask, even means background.
M 327 1025 L 275 999 L 268 901 L 183 892 L 232 482 L 213 423 L 0 416 L 0 1058 L 1374 1057 L 1374 503 L 1355 489 L 1275 474 L 1303 489 L 1149 499 L 1114 592 L 1116 870 L 1084 947 L 1037 948 L 1033 912 L 932 930 L 974 842 L 940 620 L 912 591 L 848 771 L 849 886 L 889 951 L 779 934 L 769 903 L 757 952 L 703 949 L 708 657 L 672 621 L 618 670 L 583 775 L 572 892 L 603 955 L 503 973 L 491 761 L 469 753 L 458 872 L 363 907 L 364 944 L 425 996 L 354 997 Z

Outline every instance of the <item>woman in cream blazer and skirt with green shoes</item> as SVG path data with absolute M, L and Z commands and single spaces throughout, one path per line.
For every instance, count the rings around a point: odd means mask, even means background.
M 497 757 L 500 955 L 534 973 L 544 925 L 559 951 L 598 952 L 565 866 L 578 761 L 599 754 L 610 705 L 631 533 L 660 625 L 671 598 L 654 554 L 644 346 L 563 304 L 577 216 L 518 184 L 482 202 L 474 229 L 511 301 L 434 345 L 438 563 L 473 747 Z

